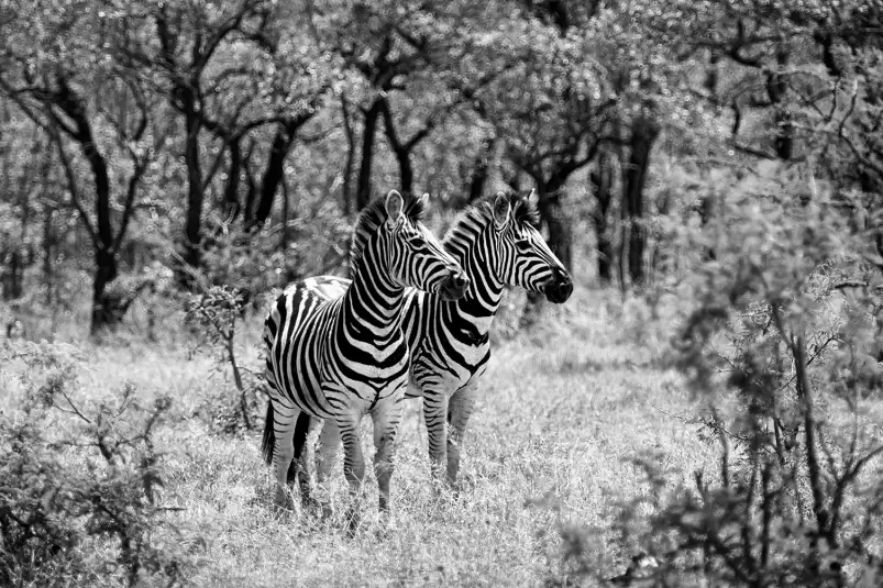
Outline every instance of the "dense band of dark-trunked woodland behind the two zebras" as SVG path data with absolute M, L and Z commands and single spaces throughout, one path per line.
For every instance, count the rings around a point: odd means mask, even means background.
M 340 267 L 390 188 L 451 211 L 536 188 L 562 260 L 592 247 L 623 288 L 675 269 L 674 229 L 764 163 L 872 223 L 880 9 L 4 2 L 2 297 L 91 297 L 96 332 L 159 265 L 263 291 Z

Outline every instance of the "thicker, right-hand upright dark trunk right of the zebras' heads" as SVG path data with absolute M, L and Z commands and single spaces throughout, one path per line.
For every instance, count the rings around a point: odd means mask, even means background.
M 628 268 L 633 286 L 644 282 L 644 248 L 647 234 L 643 225 L 644 185 L 647 170 L 650 167 L 650 152 L 659 136 L 659 124 L 648 117 L 637 119 L 631 130 L 631 155 L 626 170 L 626 182 L 622 196 L 628 215 Z M 625 238 L 625 235 L 623 235 Z

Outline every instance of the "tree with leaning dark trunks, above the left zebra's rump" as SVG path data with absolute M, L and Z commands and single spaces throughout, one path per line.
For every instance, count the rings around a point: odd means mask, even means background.
M 269 7 L 261 12 L 257 23 L 243 30 L 249 43 L 225 46 L 218 59 L 222 65 L 207 71 L 211 85 L 200 114 L 206 127 L 229 151 L 227 219 L 232 221 L 242 211 L 246 230 L 269 219 L 283 184 L 285 162 L 297 135 L 320 112 L 341 67 L 331 54 L 317 51 L 301 23 L 305 13 L 294 7 Z M 265 126 L 274 129 L 272 140 L 254 137 L 243 158 L 246 136 Z M 255 147 L 255 143 L 264 141 L 269 148 Z M 252 179 L 253 162 L 263 155 L 263 173 L 260 179 Z M 239 186 L 243 170 L 250 181 L 241 206 Z

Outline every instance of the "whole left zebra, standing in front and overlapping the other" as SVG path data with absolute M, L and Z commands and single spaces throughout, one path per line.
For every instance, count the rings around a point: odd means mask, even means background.
M 278 482 L 277 503 L 287 503 L 286 487 L 296 476 L 301 499 L 309 500 L 301 448 L 321 420 L 328 432 L 340 435 L 329 446 L 343 442 L 344 474 L 355 495 L 365 476 L 361 421 L 369 413 L 379 506 L 388 510 L 394 441 L 408 377 L 401 330 L 406 287 L 453 300 L 468 286 L 461 266 L 420 222 L 427 201 L 428 195 L 402 198 L 391 190 L 372 202 L 353 231 L 352 281 L 322 276 L 294 284 L 266 319 L 271 401 L 262 448 Z M 355 503 L 350 517 L 356 525 Z

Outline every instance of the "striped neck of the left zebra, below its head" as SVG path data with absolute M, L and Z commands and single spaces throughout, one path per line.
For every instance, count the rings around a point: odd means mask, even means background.
M 401 336 L 405 288 L 363 264 L 343 296 L 340 328 L 347 339 L 385 346 Z

